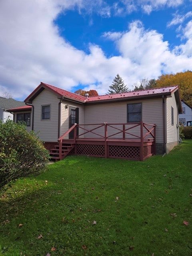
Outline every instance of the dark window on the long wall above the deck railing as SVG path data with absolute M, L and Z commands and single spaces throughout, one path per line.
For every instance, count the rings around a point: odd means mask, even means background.
M 142 104 L 127 104 L 127 122 L 140 122 L 142 120 Z

